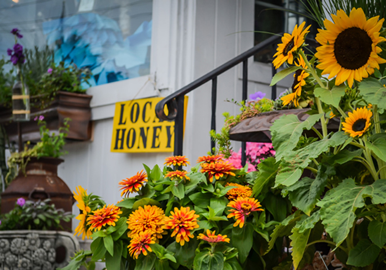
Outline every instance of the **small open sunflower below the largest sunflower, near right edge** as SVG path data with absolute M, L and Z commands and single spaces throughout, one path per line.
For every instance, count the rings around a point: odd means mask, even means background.
M 373 113 L 367 110 L 366 107 L 357 108 L 352 113 L 348 113 L 348 117 L 342 123 L 342 129 L 349 133 L 351 137 L 361 137 L 371 125 L 370 118 L 372 115 Z

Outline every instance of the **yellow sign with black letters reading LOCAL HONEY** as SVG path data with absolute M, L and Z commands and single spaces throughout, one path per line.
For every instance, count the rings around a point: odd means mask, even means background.
M 174 121 L 161 121 L 155 105 L 163 97 L 117 102 L 113 120 L 111 152 L 149 153 L 174 151 Z M 187 96 L 184 106 L 184 128 Z M 167 113 L 167 108 L 165 107 Z

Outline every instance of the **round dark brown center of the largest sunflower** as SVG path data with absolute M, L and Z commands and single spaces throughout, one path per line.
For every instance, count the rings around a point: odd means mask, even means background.
M 335 58 L 345 69 L 359 69 L 369 60 L 371 45 L 371 38 L 365 30 L 358 27 L 347 28 L 335 40 Z

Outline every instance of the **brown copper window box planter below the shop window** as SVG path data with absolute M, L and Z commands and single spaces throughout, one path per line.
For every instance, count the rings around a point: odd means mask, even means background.
M 31 120 L 21 122 L 22 141 L 39 141 L 40 133 L 36 116 L 43 115 L 47 127 L 57 132 L 65 118 L 71 118 L 67 139 L 87 141 L 91 138 L 91 108 L 92 96 L 86 94 L 59 91 L 49 107 L 39 110 L 31 109 Z M 10 142 L 18 141 L 17 123 L 12 121 L 12 110 L 0 110 L 0 124 L 4 124 Z

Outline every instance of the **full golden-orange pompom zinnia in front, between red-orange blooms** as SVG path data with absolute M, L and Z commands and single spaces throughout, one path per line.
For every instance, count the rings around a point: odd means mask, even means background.
M 131 231 L 127 233 L 127 237 L 133 238 L 134 235 L 141 231 L 147 231 L 156 238 L 162 238 L 164 232 L 164 210 L 157 206 L 140 206 L 127 219 L 127 228 Z

